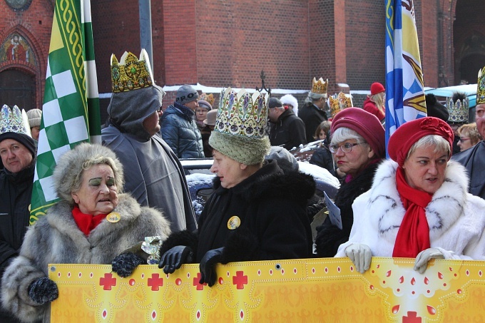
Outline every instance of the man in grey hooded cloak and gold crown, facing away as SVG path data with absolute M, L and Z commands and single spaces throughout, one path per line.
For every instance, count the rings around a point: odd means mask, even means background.
M 113 95 L 109 125 L 101 130 L 126 170 L 125 191 L 143 206 L 162 210 L 170 229 L 195 230 L 197 223 L 180 161 L 158 134 L 165 92 L 153 81 L 148 54 L 111 56 Z

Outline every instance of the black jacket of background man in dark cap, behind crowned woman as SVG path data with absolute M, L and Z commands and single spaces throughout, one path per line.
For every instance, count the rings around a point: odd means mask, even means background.
M 307 143 L 305 123 L 290 109 L 281 114 L 276 123 L 270 123 L 271 145 L 283 145 L 291 150 Z

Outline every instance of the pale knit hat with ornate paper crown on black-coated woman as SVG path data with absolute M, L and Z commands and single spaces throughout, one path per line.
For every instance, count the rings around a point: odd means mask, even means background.
M 270 140 L 265 135 L 266 122 L 267 94 L 256 91 L 251 96 L 244 89 L 235 93 L 227 88 L 220 93 L 209 145 L 239 163 L 262 163 L 270 150 Z

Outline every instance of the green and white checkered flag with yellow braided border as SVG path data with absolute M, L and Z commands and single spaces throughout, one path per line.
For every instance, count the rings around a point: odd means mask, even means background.
M 30 224 L 58 201 L 52 174 L 78 143 L 101 143 L 91 3 L 56 0 L 48 53 Z

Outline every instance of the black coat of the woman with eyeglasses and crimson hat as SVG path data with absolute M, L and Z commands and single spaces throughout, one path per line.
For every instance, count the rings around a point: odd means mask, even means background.
M 379 163 L 370 164 L 349 183 L 342 183 L 340 186 L 334 202 L 340 209 L 342 230 L 332 225 L 329 217 L 325 219 L 322 225 L 317 227 L 315 245 L 318 257 L 334 257 L 339 245 L 349 240 L 350 230 L 354 224 L 352 203 L 359 195 L 371 188 L 378 165 Z

